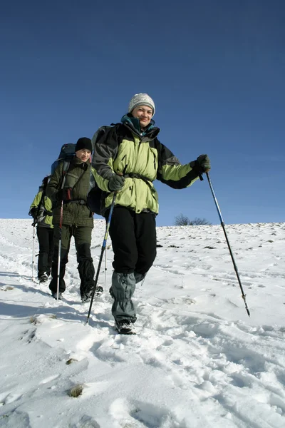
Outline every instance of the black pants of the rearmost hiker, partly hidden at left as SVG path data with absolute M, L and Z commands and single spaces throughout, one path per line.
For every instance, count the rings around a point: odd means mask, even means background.
M 51 263 L 53 260 L 53 229 L 39 226 L 36 228 L 38 235 L 38 278 L 47 273 L 51 273 Z

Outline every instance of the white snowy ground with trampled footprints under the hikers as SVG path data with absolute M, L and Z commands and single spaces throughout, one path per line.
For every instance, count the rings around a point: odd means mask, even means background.
M 157 228 L 138 335 L 121 336 L 110 248 L 85 325 L 74 248 L 56 302 L 31 280 L 31 220 L 0 220 L 0 427 L 284 428 L 285 223 L 226 228 L 251 317 L 221 226 Z M 96 220 L 95 267 L 104 231 Z

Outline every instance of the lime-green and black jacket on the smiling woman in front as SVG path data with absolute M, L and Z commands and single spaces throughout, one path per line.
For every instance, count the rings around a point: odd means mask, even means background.
M 158 141 L 160 129 L 153 126 L 153 121 L 145 133 L 138 131 L 138 124 L 134 126 L 138 119 L 124 116 L 122 121 L 95 143 L 93 178 L 105 192 L 105 208 L 113 199 L 113 193 L 108 189 L 110 177 L 113 173 L 123 173 L 125 185 L 118 192 L 116 205 L 128 207 L 135 213 L 151 211 L 157 214 L 159 205 L 157 191 L 152 184 L 154 180 L 182 189 L 192 185 L 199 178 L 199 173 L 189 163 L 181 165 L 173 153 Z M 134 177 L 134 174 L 140 177 Z

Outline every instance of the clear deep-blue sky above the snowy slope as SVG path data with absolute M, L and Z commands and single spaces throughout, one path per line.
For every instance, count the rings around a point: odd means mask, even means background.
M 285 2 L 6 1 L 1 6 L 1 218 L 28 208 L 63 143 L 155 101 L 160 141 L 201 153 L 225 223 L 285 220 Z M 207 180 L 155 183 L 157 225 L 219 223 Z

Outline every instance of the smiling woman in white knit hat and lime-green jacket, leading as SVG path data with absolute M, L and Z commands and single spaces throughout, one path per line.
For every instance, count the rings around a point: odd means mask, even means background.
M 156 256 L 158 197 L 153 181 L 187 188 L 211 168 L 207 155 L 182 165 L 158 140 L 160 129 L 152 120 L 154 114 L 152 98 L 147 93 L 135 94 L 121 122 L 93 141 L 92 173 L 105 192 L 105 218 L 117 192 L 110 222 L 114 251 L 110 294 L 115 327 L 123 334 L 134 333 L 135 284 L 145 277 Z

